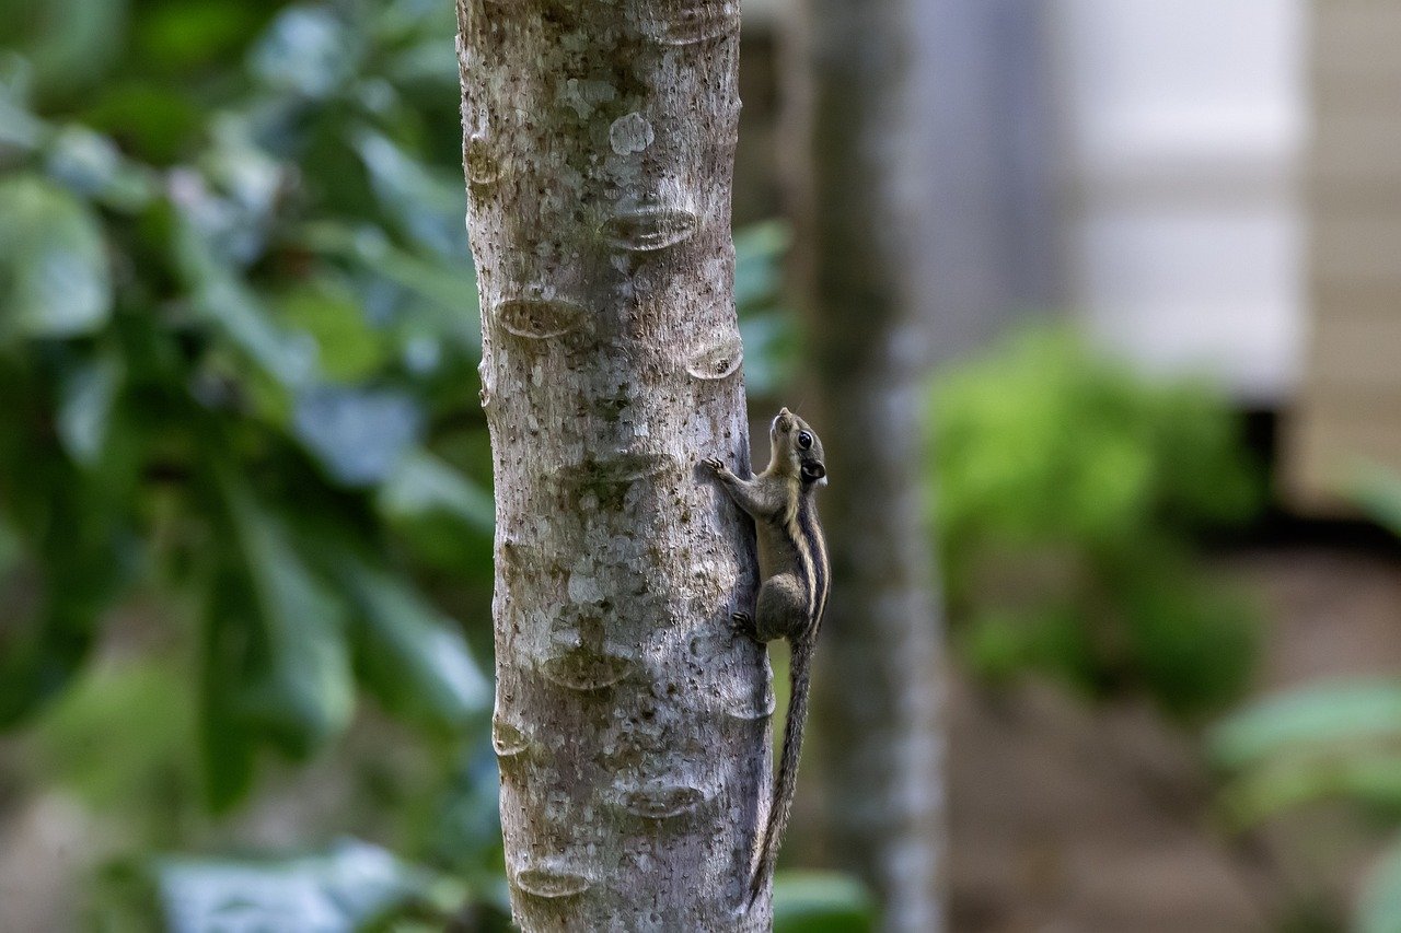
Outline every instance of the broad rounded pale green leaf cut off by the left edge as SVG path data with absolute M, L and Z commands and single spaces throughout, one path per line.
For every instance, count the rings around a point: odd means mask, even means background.
M 0 181 L 0 335 L 91 333 L 112 311 L 102 231 L 73 195 L 34 175 Z

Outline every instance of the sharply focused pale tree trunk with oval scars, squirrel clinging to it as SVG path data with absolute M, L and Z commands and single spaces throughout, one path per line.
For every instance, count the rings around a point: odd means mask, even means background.
M 743 915 L 772 689 L 752 532 L 729 0 L 458 0 L 496 476 L 506 869 L 527 930 Z

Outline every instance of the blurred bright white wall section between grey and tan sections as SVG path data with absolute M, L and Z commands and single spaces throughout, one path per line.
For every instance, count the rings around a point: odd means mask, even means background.
M 1066 287 L 1104 343 L 1286 401 L 1304 333 L 1304 0 L 1048 0 Z

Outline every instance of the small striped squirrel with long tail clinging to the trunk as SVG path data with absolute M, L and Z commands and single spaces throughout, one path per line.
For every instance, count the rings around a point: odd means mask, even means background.
M 789 678 L 792 698 L 783 727 L 783 755 L 773 782 L 768 825 L 759 843 L 750 885 L 750 904 L 758 899 L 778 860 L 783 831 L 793 808 L 797 762 L 807 721 L 813 649 L 827 609 L 831 566 L 827 542 L 817 521 L 815 492 L 827 485 L 822 441 L 801 417 L 780 409 L 769 427 L 772 457 L 754 479 L 740 479 L 719 458 L 702 464 L 710 469 L 740 509 L 754 518 L 759 541 L 759 598 L 755 614 L 734 612 L 737 630 L 759 644 L 787 639 L 792 646 Z

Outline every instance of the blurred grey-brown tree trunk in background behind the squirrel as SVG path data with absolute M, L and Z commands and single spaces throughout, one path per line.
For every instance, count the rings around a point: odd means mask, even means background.
M 794 269 L 832 478 L 817 679 L 834 856 L 884 929 L 943 926 L 940 623 L 923 534 L 927 0 L 804 0 L 785 46 Z

